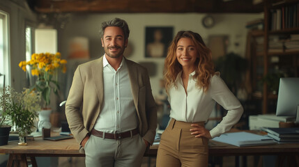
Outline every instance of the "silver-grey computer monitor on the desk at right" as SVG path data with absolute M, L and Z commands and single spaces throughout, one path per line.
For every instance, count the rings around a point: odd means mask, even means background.
M 291 116 L 299 121 L 299 78 L 280 78 L 276 116 Z

